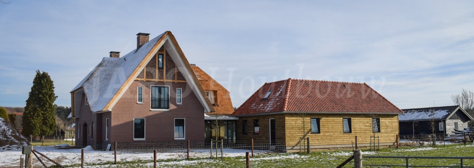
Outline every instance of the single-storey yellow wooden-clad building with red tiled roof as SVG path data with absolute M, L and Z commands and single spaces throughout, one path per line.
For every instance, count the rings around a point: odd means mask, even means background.
M 233 116 L 237 141 L 253 138 L 294 152 L 300 138 L 310 139 L 310 149 L 353 147 L 355 136 L 358 146 L 375 138 L 396 145 L 399 114 L 365 83 L 288 79 L 261 86 Z

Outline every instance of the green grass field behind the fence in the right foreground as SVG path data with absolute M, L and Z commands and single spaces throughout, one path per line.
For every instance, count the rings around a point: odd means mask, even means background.
M 362 156 L 440 156 L 440 157 L 473 157 L 473 145 L 446 145 L 438 147 L 403 147 L 401 149 L 385 148 L 379 151 L 362 150 Z M 250 159 L 252 168 L 334 168 L 352 156 L 352 150 L 317 151 L 310 154 L 268 153 Z M 167 168 L 245 168 L 244 157 L 225 157 L 224 159 L 193 158 L 187 160 L 161 160 L 160 167 Z M 459 166 L 460 160 L 451 159 L 410 159 L 411 165 Z M 465 166 L 474 166 L 474 160 L 463 160 Z M 363 158 L 362 164 L 404 165 L 405 159 Z M 86 164 L 92 166 L 92 164 Z M 130 162 L 94 164 L 100 167 L 131 168 L 153 167 L 152 161 L 138 160 Z M 71 165 L 77 166 L 77 165 Z M 349 163 L 345 168 L 354 167 Z

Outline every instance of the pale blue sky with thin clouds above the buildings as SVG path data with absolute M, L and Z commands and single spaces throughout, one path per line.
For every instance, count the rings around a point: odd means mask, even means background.
M 400 109 L 474 90 L 472 0 L 1 0 L 0 106 L 24 107 L 36 70 L 56 104 L 137 33 L 173 32 L 240 106 L 292 79 L 366 83 Z

